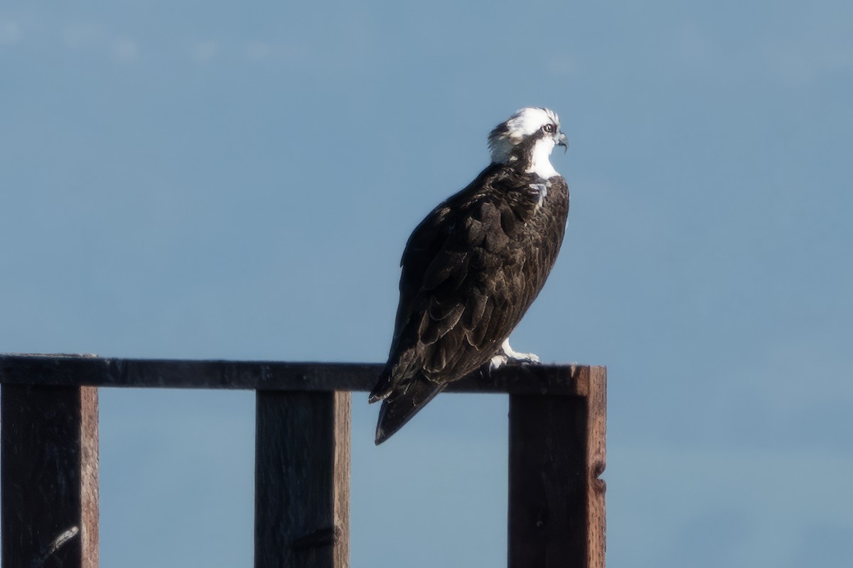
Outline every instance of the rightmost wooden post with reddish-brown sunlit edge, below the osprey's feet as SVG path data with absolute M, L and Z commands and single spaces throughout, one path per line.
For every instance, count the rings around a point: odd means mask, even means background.
M 603 568 L 606 370 L 578 396 L 509 397 L 510 568 Z

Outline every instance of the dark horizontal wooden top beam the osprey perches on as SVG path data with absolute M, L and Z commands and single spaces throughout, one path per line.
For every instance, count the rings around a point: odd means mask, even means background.
M 532 364 L 475 372 L 449 393 L 584 396 L 577 376 L 589 365 Z M 382 370 L 367 363 L 281 363 L 112 359 L 91 355 L 0 354 L 0 383 L 62 387 L 223 388 L 265 391 L 369 391 Z

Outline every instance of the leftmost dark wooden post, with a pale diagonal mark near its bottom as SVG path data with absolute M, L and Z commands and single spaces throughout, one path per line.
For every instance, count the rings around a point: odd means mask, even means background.
M 4 384 L 2 399 L 3 566 L 97 568 L 97 388 Z

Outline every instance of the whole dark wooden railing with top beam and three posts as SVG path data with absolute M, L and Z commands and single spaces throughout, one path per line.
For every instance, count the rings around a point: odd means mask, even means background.
M 349 566 L 351 392 L 380 370 L 0 355 L 3 567 L 97 567 L 100 387 L 254 390 L 256 568 Z M 446 392 L 509 394 L 510 568 L 603 568 L 606 369 L 503 367 Z

